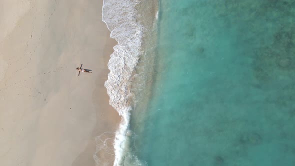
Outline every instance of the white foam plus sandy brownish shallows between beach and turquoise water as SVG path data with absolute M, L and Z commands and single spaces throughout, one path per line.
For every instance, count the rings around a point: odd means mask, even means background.
M 133 111 L 135 105 L 144 107 L 146 103 L 139 102 L 147 102 L 150 94 L 146 86 L 151 87 L 154 74 L 157 5 L 157 0 L 126 0 L 124 3 L 104 0 L 103 3 L 102 20 L 111 31 L 110 37 L 118 42 L 110 55 L 110 72 L 104 84 L 110 96 L 110 104 L 122 117 L 115 133 L 114 165 L 141 164 L 128 149 L 132 134 L 129 122 L 133 113 L 136 113 Z M 151 12 L 145 13 L 146 11 Z

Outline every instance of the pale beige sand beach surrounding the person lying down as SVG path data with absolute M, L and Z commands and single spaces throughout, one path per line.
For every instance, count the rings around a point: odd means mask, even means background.
M 103 86 L 115 41 L 102 0 L 0 6 L 0 165 L 95 165 L 95 136 L 120 121 Z M 77 76 L 80 63 L 93 72 Z

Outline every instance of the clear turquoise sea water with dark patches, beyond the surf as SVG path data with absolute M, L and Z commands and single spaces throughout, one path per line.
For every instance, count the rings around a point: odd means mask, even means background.
M 292 0 L 159 0 L 132 153 L 156 166 L 294 165 L 294 21 Z

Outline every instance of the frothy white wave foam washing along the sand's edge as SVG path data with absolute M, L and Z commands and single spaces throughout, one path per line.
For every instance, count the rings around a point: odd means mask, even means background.
M 130 80 L 139 59 L 143 26 L 136 22 L 135 5 L 139 0 L 103 0 L 102 21 L 118 44 L 108 62 L 108 79 L 104 86 L 109 103 L 122 117 L 114 139 L 114 165 L 121 165 L 127 144 L 127 129 L 131 109 Z M 97 158 L 96 158 L 97 159 Z M 96 163 L 98 164 L 98 163 Z

